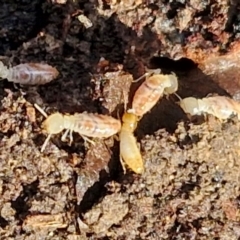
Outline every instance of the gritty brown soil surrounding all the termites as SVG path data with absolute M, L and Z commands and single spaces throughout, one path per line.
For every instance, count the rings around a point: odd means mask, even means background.
M 0 82 L 0 239 L 240 239 L 240 124 L 189 120 L 163 97 L 135 131 L 145 171 L 125 173 L 117 138 L 46 135 L 48 114 L 121 117 L 147 68 L 178 95 L 240 100 L 237 0 L 2 0 L 6 65 L 45 62 L 36 87 Z

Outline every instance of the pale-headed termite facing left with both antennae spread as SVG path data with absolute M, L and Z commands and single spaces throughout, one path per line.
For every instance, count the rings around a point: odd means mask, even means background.
M 121 122 L 111 116 L 85 112 L 73 115 L 56 112 L 48 116 L 37 104 L 34 104 L 34 106 L 46 117 L 46 120 L 42 123 L 42 128 L 47 132 L 48 137 L 41 148 L 41 152 L 44 151 L 51 136 L 61 133 L 63 130 L 66 130 L 66 132 L 62 136 L 62 140 L 69 134 L 71 143 L 73 132 L 77 132 L 84 140 L 88 140 L 87 137 L 108 138 L 121 129 Z

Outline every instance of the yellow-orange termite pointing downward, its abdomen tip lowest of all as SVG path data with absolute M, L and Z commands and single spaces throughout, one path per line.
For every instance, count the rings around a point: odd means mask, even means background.
M 137 140 L 133 135 L 137 127 L 138 117 L 132 113 L 124 113 L 122 117 L 122 128 L 119 133 L 120 159 L 125 171 L 125 164 L 135 173 L 141 174 L 144 169 L 143 159 Z

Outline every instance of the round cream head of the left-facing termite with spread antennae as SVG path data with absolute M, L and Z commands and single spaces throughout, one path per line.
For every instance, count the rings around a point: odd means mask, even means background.
M 47 117 L 42 123 L 42 128 L 48 134 L 58 134 L 64 130 L 64 116 L 61 113 L 54 113 Z

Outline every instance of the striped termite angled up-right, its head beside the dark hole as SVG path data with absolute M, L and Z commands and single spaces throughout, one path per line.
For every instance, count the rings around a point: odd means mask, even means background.
M 132 108 L 128 110 L 138 117 L 150 111 L 158 100 L 165 95 L 175 93 L 178 89 L 178 80 L 173 74 L 154 74 L 148 77 L 137 89 L 132 101 Z

